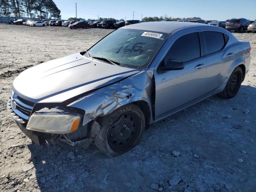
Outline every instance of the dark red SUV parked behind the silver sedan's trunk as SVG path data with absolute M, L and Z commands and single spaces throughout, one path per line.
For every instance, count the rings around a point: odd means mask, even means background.
M 248 24 L 245 18 L 240 19 L 230 19 L 229 22 L 226 23 L 226 30 L 229 31 L 238 31 L 242 33 L 244 30 L 247 30 Z

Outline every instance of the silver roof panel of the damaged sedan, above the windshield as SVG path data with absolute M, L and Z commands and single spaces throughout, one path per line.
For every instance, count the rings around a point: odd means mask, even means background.
M 127 25 L 122 28 L 171 33 L 172 31 L 177 30 L 179 28 L 202 26 L 202 25 L 209 26 L 207 24 L 193 23 L 193 22 L 176 22 L 176 21 L 159 22 L 159 21 L 155 21 L 155 22 L 143 22 L 143 23 L 138 23 L 138 24 L 133 24 L 133 25 Z

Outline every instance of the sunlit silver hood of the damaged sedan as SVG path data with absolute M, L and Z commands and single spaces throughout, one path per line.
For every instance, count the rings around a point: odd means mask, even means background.
M 63 102 L 140 71 L 76 53 L 23 71 L 14 80 L 12 88 L 15 94 L 31 102 Z

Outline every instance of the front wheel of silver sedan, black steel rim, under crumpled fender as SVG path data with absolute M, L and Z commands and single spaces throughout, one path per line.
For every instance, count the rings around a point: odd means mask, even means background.
M 144 114 L 135 104 L 121 106 L 97 122 L 101 129 L 94 143 L 109 157 L 124 154 L 134 148 L 145 130 Z

